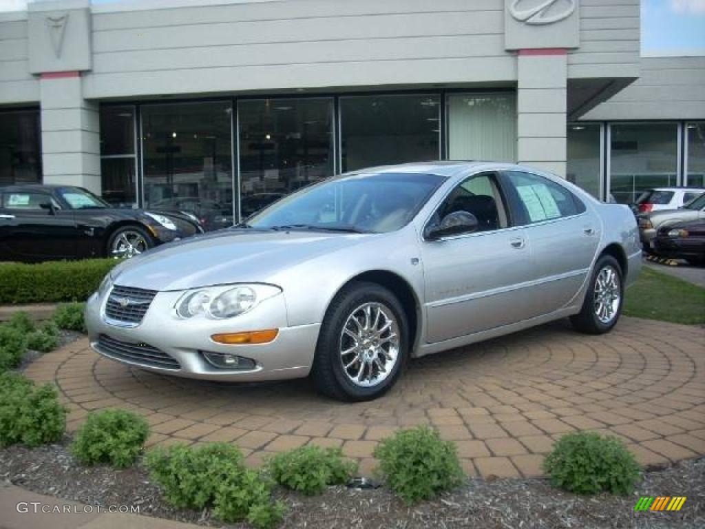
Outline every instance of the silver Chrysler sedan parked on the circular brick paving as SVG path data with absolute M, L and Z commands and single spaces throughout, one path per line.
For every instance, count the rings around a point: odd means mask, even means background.
M 329 178 L 123 262 L 86 322 L 92 348 L 128 365 L 310 375 L 362 401 L 410 358 L 563 317 L 608 332 L 640 267 L 626 206 L 522 166 L 406 164 Z

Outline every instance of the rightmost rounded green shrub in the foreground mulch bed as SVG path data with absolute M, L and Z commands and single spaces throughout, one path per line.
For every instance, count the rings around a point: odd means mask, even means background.
M 639 465 L 623 442 L 595 432 L 561 437 L 544 459 L 544 470 L 554 487 L 579 494 L 630 494 L 639 479 Z

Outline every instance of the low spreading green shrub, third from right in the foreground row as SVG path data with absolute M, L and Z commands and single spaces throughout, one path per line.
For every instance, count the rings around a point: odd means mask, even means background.
M 276 454 L 267 463 L 269 474 L 283 487 L 307 496 L 321 494 L 328 485 L 347 483 L 357 466 L 339 448 L 302 446 Z

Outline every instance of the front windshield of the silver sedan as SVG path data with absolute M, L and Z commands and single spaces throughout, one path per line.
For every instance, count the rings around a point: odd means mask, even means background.
M 354 174 L 330 178 L 288 195 L 243 225 L 259 229 L 320 229 L 386 233 L 405 226 L 445 177 Z

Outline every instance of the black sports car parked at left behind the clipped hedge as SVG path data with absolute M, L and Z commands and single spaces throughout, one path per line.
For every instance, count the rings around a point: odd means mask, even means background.
M 188 214 L 119 209 L 75 186 L 0 188 L 0 261 L 133 257 L 202 232 Z

